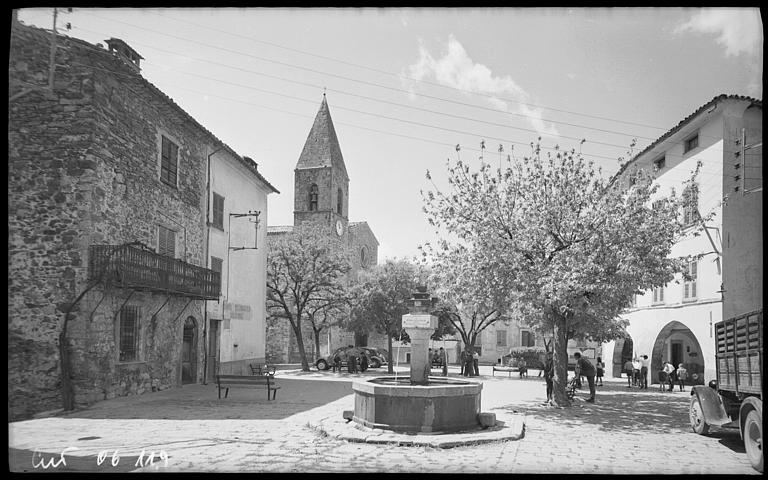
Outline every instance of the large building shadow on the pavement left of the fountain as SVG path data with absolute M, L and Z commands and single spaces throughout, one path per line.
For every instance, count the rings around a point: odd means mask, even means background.
M 97 402 L 64 418 L 120 418 L 168 420 L 279 420 L 352 394 L 351 381 L 303 380 L 276 377 L 275 400 L 261 388 L 232 388 L 218 398 L 216 384 L 184 385 L 161 392 Z

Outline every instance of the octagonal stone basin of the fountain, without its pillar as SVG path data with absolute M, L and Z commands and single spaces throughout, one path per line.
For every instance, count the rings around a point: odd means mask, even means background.
M 405 433 L 452 433 L 479 427 L 478 382 L 429 377 L 411 385 L 409 377 L 376 377 L 355 382 L 352 420 L 370 428 Z

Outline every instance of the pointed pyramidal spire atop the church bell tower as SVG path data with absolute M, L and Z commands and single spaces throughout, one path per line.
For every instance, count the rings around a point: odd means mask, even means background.
M 317 167 L 336 168 L 343 172 L 344 177 L 349 178 L 347 168 L 344 165 L 344 157 L 341 155 L 339 139 L 336 137 L 336 129 L 334 129 L 333 120 L 331 120 L 325 92 L 323 92 L 323 101 L 320 103 L 320 109 L 315 116 L 315 122 L 312 124 L 312 130 L 309 131 L 304 149 L 301 151 L 299 161 L 296 164 L 297 169 Z

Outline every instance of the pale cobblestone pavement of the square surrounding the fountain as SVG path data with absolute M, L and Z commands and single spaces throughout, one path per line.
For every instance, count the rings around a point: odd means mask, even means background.
M 252 389 L 233 389 L 219 400 L 214 385 L 186 385 L 10 423 L 11 470 L 42 470 L 70 448 L 66 466 L 59 462 L 49 471 L 757 474 L 738 431 L 713 428 L 705 437 L 690 430 L 687 391 L 630 390 L 623 381 L 606 381 L 597 403 L 585 403 L 581 391 L 573 407 L 559 409 L 542 404 L 540 378 L 481 375 L 482 411 L 523 415 L 524 437 L 436 449 L 350 443 L 308 426 L 352 409 L 350 380 L 362 375 L 278 371 L 277 377 L 276 401 Z M 115 450 L 120 459 L 112 466 Z

